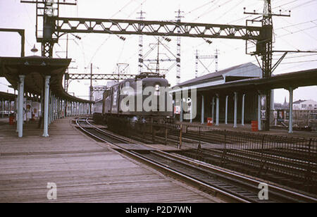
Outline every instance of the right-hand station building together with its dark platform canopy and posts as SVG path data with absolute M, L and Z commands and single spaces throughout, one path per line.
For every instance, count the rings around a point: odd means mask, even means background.
M 266 120 L 267 116 L 270 116 L 270 124 L 275 121 L 273 90 L 282 88 L 290 92 L 288 106 L 290 115 L 287 119 L 288 130 L 292 133 L 293 91 L 298 87 L 317 85 L 316 72 L 317 69 L 314 68 L 264 78 L 259 66 L 245 63 L 197 77 L 173 87 L 170 92 L 174 99 L 174 116 L 179 118 L 180 122 L 204 124 L 207 120 L 208 122 L 211 120 L 213 125 L 233 123 L 233 128 L 237 128 L 238 124 L 251 123 L 253 120 L 257 125 L 257 130 L 262 130 L 263 120 Z M 190 99 L 192 89 L 197 91 L 196 103 L 191 102 Z M 183 94 L 185 90 L 189 94 Z M 271 101 L 266 101 L 265 93 L 267 91 L 271 91 Z M 179 97 L 180 95 L 181 97 Z M 180 98 L 182 103 L 180 103 Z M 187 105 L 189 101 L 191 106 Z M 268 104 L 271 111 L 266 114 Z M 196 111 L 196 116 L 190 112 L 191 110 Z M 187 115 L 187 120 L 184 118 L 185 115 Z

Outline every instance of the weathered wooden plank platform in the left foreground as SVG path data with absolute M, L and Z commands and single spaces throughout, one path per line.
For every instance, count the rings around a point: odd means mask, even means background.
M 0 202 L 221 202 L 166 178 L 56 120 L 50 137 L 37 124 L 0 125 Z M 48 200 L 47 182 L 57 185 Z

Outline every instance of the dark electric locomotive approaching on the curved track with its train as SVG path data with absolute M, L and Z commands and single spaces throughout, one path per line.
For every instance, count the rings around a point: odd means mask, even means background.
M 134 79 L 118 82 L 106 89 L 102 100 L 94 104 L 94 123 L 117 130 L 123 125 L 133 126 L 135 123 L 170 123 L 173 119 L 173 99 L 166 91 L 168 87 L 168 80 L 158 73 L 141 73 Z M 154 92 L 147 92 L 149 88 Z M 156 100 L 149 101 L 149 95 Z M 130 101 L 127 100 L 129 96 Z M 151 107 L 150 111 L 147 105 Z

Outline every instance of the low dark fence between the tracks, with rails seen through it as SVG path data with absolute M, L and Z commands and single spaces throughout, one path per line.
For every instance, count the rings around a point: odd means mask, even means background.
M 317 194 L 316 139 L 179 124 L 135 123 L 128 132 L 145 142 L 174 144 L 195 159 L 301 185 Z

